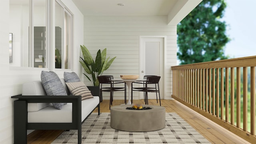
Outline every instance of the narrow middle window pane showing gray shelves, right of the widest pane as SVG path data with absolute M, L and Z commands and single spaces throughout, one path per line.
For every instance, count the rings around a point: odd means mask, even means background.
M 34 67 L 47 68 L 47 0 L 33 0 Z

